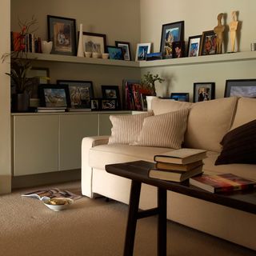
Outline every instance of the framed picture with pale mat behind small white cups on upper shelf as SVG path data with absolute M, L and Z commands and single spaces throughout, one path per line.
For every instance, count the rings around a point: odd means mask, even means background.
M 82 32 L 82 43 L 85 51 L 98 54 L 106 53 L 106 34 Z

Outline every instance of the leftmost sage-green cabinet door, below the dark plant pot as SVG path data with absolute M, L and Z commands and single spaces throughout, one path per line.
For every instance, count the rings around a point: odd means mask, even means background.
M 58 170 L 58 115 L 14 116 L 14 176 Z

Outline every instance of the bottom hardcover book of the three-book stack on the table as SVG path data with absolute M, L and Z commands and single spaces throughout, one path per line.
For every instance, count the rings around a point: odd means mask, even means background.
M 183 182 L 190 177 L 202 174 L 202 165 L 195 167 L 192 170 L 177 171 L 177 170 L 161 170 L 161 169 L 151 169 L 149 171 L 150 178 L 159 178 L 170 182 Z

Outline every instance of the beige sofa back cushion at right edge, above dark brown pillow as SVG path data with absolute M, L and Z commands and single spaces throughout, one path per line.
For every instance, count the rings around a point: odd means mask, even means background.
M 237 110 L 231 130 L 256 119 L 256 98 L 238 98 Z

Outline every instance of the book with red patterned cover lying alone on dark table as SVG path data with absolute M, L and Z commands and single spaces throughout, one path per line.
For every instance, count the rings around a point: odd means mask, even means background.
M 216 174 L 190 178 L 190 185 L 198 186 L 211 193 L 218 193 L 252 189 L 256 187 L 256 181 L 234 174 Z

